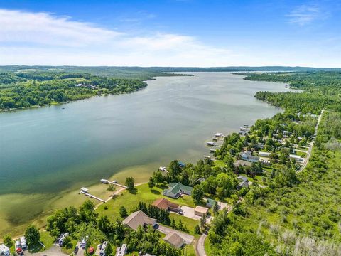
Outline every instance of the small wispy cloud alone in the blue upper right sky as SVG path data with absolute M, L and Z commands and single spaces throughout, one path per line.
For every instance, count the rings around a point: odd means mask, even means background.
M 328 17 L 328 13 L 321 11 L 318 6 L 302 5 L 293 9 L 287 15 L 290 23 L 296 23 L 300 26 L 305 26 L 315 20 L 320 20 Z

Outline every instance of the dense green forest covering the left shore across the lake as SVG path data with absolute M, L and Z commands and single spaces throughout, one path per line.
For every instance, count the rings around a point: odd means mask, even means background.
M 44 106 L 95 95 L 129 93 L 146 86 L 146 82 L 139 79 L 108 78 L 87 73 L 1 73 L 0 109 Z

